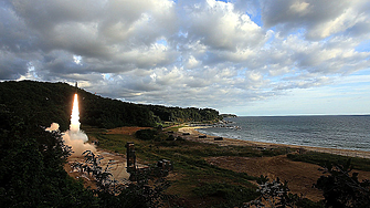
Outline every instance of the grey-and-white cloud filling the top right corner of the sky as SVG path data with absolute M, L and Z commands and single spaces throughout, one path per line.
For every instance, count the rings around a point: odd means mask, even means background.
M 266 27 L 283 32 L 306 30 L 306 38 L 319 40 L 369 22 L 369 2 L 277 0 L 263 1 L 262 17 Z

